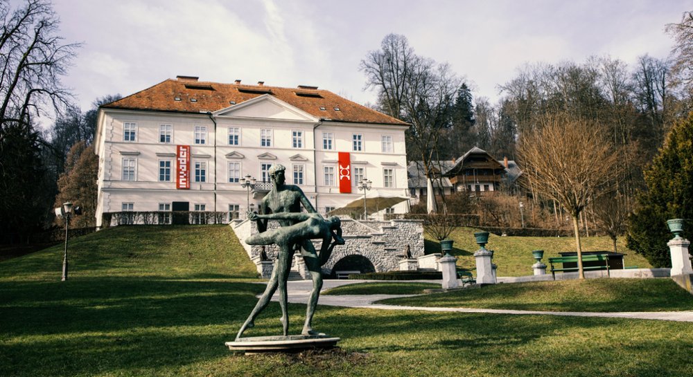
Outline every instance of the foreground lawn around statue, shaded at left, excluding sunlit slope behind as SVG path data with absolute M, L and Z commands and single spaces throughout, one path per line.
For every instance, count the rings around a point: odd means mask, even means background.
M 684 360 L 692 340 L 681 334 L 692 324 L 328 306 L 319 307 L 315 329 L 342 338 L 345 351 L 369 353 L 368 362 L 326 355 L 316 369 L 282 356 L 231 356 L 223 342 L 233 339 L 263 288 L 131 277 L 0 282 L 0 318 L 11 324 L 0 328 L 0 375 L 343 376 L 348 370 L 388 376 L 403 362 L 418 366 L 398 374 L 404 376 L 456 376 L 460 369 L 530 376 L 547 366 L 562 376 L 666 376 L 655 374 L 662 368 L 685 375 L 690 369 Z M 300 331 L 305 310 L 290 305 L 290 333 Z M 278 317 L 273 302 L 246 335 L 278 334 Z

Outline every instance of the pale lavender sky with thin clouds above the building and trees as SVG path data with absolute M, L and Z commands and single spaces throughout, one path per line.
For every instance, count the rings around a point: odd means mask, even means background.
M 693 0 L 54 0 L 54 8 L 65 41 L 83 44 L 63 83 L 86 111 L 98 97 L 177 75 L 313 85 L 367 104 L 375 93 L 364 90 L 359 64 L 389 33 L 495 102 L 527 63 L 666 58 L 665 25 Z

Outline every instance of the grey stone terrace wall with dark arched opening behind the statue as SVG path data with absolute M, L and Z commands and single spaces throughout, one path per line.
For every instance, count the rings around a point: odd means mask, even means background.
M 258 263 L 263 246 L 250 246 L 243 242 L 250 235 L 257 234 L 257 226 L 254 221 L 233 221 L 231 228 L 236 232 L 240 243 L 245 248 L 248 256 Z M 277 228 L 276 221 L 270 221 L 267 228 Z M 366 272 L 371 269 L 376 272 L 385 272 L 399 269 L 399 261 L 403 259 L 407 246 L 410 247 L 412 257 L 423 256 L 423 222 L 419 220 L 392 220 L 392 221 L 356 221 L 342 219 L 342 237 L 347 243 L 336 246 L 330 259 L 322 266 L 322 272 L 331 275 L 333 269 L 337 270 L 361 270 Z M 319 250 L 322 241 L 313 241 L 315 248 Z M 277 257 L 277 246 L 265 246 L 267 257 Z M 298 263 L 292 266 L 301 275 L 306 277 L 300 258 Z M 258 268 L 259 270 L 259 268 Z

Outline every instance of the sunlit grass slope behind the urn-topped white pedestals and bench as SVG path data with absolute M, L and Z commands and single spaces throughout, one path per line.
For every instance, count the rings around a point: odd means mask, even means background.
M 452 254 L 457 257 L 457 266 L 468 270 L 476 269 L 474 252 L 479 250 L 479 245 L 474 241 L 474 228 L 455 228 L 450 239 L 453 239 Z M 608 250 L 611 251 L 611 239 L 608 237 L 582 237 L 582 250 Z M 651 268 L 644 257 L 635 254 L 626 248 L 625 239 L 618 239 L 618 250 L 625 254 L 626 266 L 638 266 Z M 532 275 L 532 250 L 544 250 L 542 261 L 547 264 L 550 257 L 560 257 L 559 252 L 575 251 L 574 237 L 500 237 L 489 235 L 489 250 L 494 250 L 493 263 L 498 265 L 498 276 L 524 276 Z M 440 245 L 434 239 L 426 235 L 426 252 L 440 252 Z M 547 268 L 550 270 L 550 267 Z

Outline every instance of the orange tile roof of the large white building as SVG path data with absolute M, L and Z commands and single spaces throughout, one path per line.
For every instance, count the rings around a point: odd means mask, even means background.
M 260 95 L 270 94 L 297 107 L 316 118 L 335 122 L 375 123 L 384 125 L 408 125 L 406 122 L 386 116 L 332 93 L 313 87 L 279 88 L 245 84 L 221 84 L 185 79 L 168 79 L 148 89 L 139 91 L 115 102 L 105 104 L 105 109 L 134 109 L 146 111 L 173 111 L 200 113 L 218 111 L 240 104 Z M 179 98 L 180 100 L 175 100 Z M 195 102 L 192 102 L 194 99 Z M 325 110 L 322 111 L 321 107 Z M 338 111 L 335 108 L 339 109 Z

